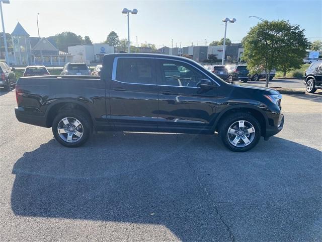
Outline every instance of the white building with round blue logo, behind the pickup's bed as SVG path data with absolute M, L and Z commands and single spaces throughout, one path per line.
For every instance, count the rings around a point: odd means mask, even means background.
M 114 53 L 114 47 L 108 44 L 68 46 L 68 53 L 74 56 L 74 62 L 90 64 L 102 62 L 104 54 Z

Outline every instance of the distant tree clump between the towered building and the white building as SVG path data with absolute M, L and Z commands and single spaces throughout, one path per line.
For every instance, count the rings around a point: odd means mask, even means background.
M 48 38 L 54 40 L 58 49 L 65 52 L 68 52 L 68 46 L 82 44 L 84 42 L 82 36 L 72 32 L 62 32 Z

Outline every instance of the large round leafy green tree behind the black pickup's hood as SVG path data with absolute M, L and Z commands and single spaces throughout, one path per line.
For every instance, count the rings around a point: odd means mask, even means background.
M 309 42 L 304 30 L 288 21 L 263 21 L 252 27 L 244 39 L 243 59 L 251 74 L 264 70 L 266 87 L 276 67 L 291 68 L 305 57 Z

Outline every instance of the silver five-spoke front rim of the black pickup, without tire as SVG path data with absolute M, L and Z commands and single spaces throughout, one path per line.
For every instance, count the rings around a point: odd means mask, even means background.
M 246 147 L 255 138 L 255 128 L 246 120 L 238 120 L 229 127 L 227 135 L 228 141 L 233 146 Z

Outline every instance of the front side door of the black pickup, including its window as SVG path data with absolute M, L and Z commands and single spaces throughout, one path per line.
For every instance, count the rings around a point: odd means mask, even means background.
M 160 87 L 158 130 L 192 133 L 211 128 L 216 115 L 217 86 L 202 70 L 188 62 L 156 58 L 156 76 Z M 214 88 L 198 87 L 210 80 Z

